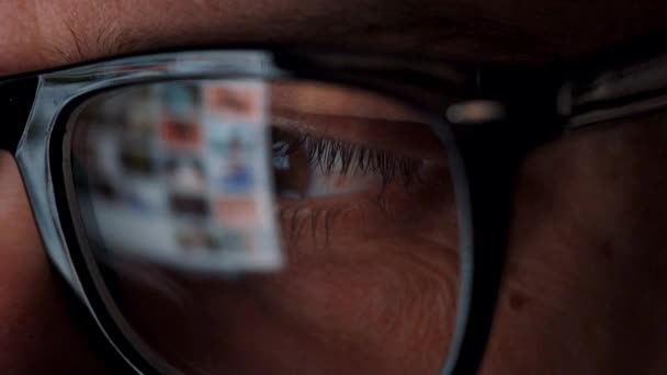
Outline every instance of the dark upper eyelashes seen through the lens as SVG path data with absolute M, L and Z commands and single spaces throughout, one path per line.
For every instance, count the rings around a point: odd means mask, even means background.
M 422 161 L 398 156 L 386 149 L 368 148 L 350 141 L 316 137 L 307 133 L 275 130 L 284 139 L 273 144 L 273 157 L 287 157 L 303 151 L 308 162 L 319 168 L 324 174 L 334 172 L 340 175 L 360 173 L 376 174 L 382 178 L 383 186 L 395 179 L 405 185 L 420 181 Z

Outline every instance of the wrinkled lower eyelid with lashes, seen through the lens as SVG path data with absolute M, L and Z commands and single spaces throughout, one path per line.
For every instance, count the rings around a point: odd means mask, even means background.
M 389 185 L 376 183 L 363 191 L 339 195 L 278 197 L 276 218 L 287 252 L 302 255 L 309 250 L 326 250 L 330 243 L 338 247 L 347 240 L 354 246 L 360 238 L 376 236 L 388 227 L 414 227 L 411 219 L 410 223 L 402 220 L 414 216 L 404 217 L 406 209 L 412 214 L 415 209 L 421 209 L 415 206 L 425 204 L 425 194 L 429 196 L 433 191 L 442 191 L 442 201 L 451 200 L 451 194 L 443 191 L 449 186 L 442 175 L 449 175 L 446 166 L 438 163 L 427 169 L 418 183 L 409 186 L 394 181 Z

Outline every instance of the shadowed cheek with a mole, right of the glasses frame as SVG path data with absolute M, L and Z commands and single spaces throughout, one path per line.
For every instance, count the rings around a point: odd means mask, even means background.
M 636 373 L 662 357 L 664 129 L 610 126 L 527 160 L 484 374 Z

